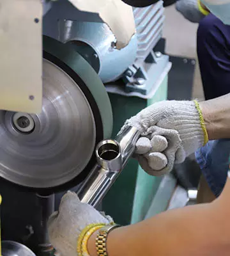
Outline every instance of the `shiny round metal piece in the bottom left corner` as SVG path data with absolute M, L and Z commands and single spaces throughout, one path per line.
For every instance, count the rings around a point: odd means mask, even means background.
M 3 256 L 36 256 L 29 248 L 14 241 L 2 242 Z

